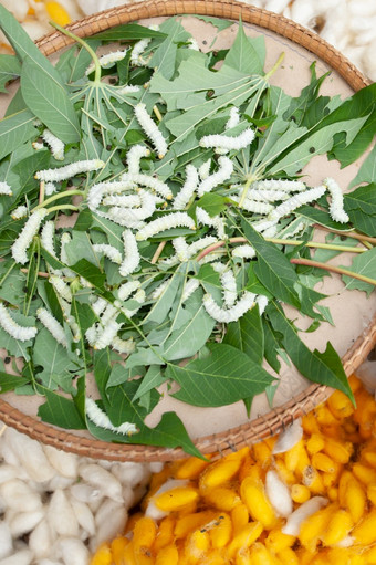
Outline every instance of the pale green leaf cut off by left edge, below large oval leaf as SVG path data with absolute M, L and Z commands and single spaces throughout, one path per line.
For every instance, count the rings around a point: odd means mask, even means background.
M 34 119 L 34 114 L 29 109 L 23 109 L 0 119 L 0 159 L 3 159 L 35 136 Z

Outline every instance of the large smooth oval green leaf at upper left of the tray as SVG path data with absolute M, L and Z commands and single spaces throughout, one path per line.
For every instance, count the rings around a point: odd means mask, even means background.
M 43 57 L 44 59 L 44 57 Z M 25 57 L 21 71 L 21 92 L 28 107 L 59 139 L 80 140 L 80 124 L 55 69 L 44 59 L 43 66 Z

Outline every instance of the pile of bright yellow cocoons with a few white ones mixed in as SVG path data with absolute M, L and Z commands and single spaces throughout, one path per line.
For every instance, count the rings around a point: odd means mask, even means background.
M 154 473 L 91 565 L 376 563 L 376 401 L 362 381 L 278 438 Z

